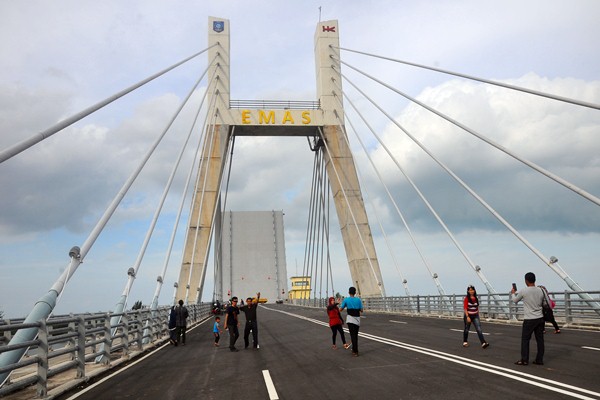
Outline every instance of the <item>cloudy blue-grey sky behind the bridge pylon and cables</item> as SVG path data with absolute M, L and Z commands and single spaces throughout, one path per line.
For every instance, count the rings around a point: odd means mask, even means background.
M 319 20 L 338 20 L 344 48 L 600 104 L 595 40 L 600 37 L 600 3 L 595 0 L 0 0 L 0 149 L 205 49 L 209 16 L 231 24 L 232 99 L 316 100 L 314 31 Z M 348 51 L 342 51 L 342 59 L 600 196 L 600 111 Z M 56 281 L 68 264 L 69 249 L 88 237 L 207 62 L 201 55 L 0 164 L 0 310 L 5 316 L 26 316 Z M 342 72 L 532 246 L 546 257 L 557 257 L 584 289 L 600 290 L 598 205 L 351 68 L 343 66 Z M 388 295 L 405 294 L 402 279 L 412 294 L 437 294 L 437 289 L 348 121 L 446 293 L 462 294 L 468 284 L 479 292 L 484 288 L 396 163 L 496 291 L 507 292 L 512 282 L 522 286 L 527 271 L 551 291 L 568 289 L 394 123 L 348 82 L 343 84 L 346 127 Z M 66 286 L 56 313 L 113 309 L 205 85 L 183 109 Z M 131 304 L 151 301 L 192 157 L 187 150 L 185 167 L 175 178 L 132 288 Z M 227 209 L 284 211 L 288 276 L 302 272 L 312 165 L 305 138 L 236 140 Z M 172 301 L 183 242 L 180 230 L 160 304 Z M 336 290 L 344 293 L 351 279 L 336 229 L 331 252 Z M 209 289 L 203 299 L 210 297 Z

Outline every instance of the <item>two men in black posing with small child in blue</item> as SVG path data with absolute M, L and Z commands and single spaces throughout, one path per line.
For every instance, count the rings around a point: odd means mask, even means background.
M 240 337 L 238 327 L 240 321 L 238 315 L 240 311 L 246 316 L 246 325 L 244 327 L 244 348 L 250 346 L 250 332 L 252 332 L 252 345 L 254 349 L 258 349 L 258 321 L 256 317 L 256 311 L 258 309 L 258 301 L 260 299 L 260 292 L 256 293 L 256 297 L 248 297 L 246 304 L 238 307 L 238 298 L 232 297 L 231 302 L 227 305 L 225 310 L 225 330 L 229 331 L 229 350 L 236 352 L 239 351 L 235 347 L 235 342 Z M 215 323 L 213 325 L 213 335 L 215 337 L 215 346 L 219 346 L 219 339 L 221 338 L 220 332 L 220 317 L 215 317 Z

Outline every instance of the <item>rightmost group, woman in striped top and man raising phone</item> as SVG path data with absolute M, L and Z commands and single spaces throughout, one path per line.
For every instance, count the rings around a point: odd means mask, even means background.
M 516 285 L 513 284 L 511 290 L 511 300 L 514 303 L 523 301 L 523 327 L 521 330 L 521 358 L 516 365 L 529 364 L 529 342 L 531 336 L 535 336 L 537 344 L 537 354 L 534 364 L 544 365 L 544 332 L 546 321 L 554 326 L 554 333 L 560 333 L 560 328 L 554 319 L 552 312 L 554 301 L 548 295 L 548 291 L 543 286 L 535 285 L 536 277 L 533 272 L 525 274 L 525 287 L 517 291 Z M 463 302 L 464 309 L 464 331 L 463 331 L 463 347 L 468 347 L 468 335 L 471 329 L 471 324 L 475 326 L 477 336 L 481 342 L 482 348 L 487 348 L 489 343 L 483 337 L 481 330 L 481 322 L 479 320 L 479 299 L 475 287 L 470 285 L 467 287 L 467 295 Z

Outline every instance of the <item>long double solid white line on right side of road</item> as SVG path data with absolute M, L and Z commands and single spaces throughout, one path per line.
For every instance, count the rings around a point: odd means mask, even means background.
M 325 325 L 325 326 L 329 326 L 328 324 L 321 322 L 319 320 L 316 319 L 312 319 L 312 318 L 307 318 L 304 317 L 302 315 L 297 315 L 297 314 L 292 314 L 290 312 L 286 312 L 286 311 L 282 311 L 282 310 L 276 310 L 273 308 L 267 308 L 265 307 L 265 309 L 267 310 L 271 310 L 271 311 L 277 311 L 280 312 L 282 314 L 287 314 L 296 318 L 300 318 L 300 319 L 304 319 L 310 322 L 314 322 L 316 324 L 319 325 Z M 547 389 L 550 391 L 554 391 L 554 392 L 558 392 L 558 393 L 562 393 L 565 394 L 567 396 L 571 396 L 571 397 L 575 397 L 578 399 L 585 399 L 585 400 L 594 400 L 597 399 L 598 397 L 600 397 L 600 393 L 598 392 L 594 392 L 592 390 L 588 390 L 588 389 L 584 389 L 584 388 L 580 388 L 577 386 L 573 386 L 573 385 L 569 385 L 566 383 L 562 383 L 562 382 L 558 382 L 558 381 L 554 381 L 551 379 L 545 379 L 545 378 L 541 378 L 539 376 L 536 375 L 531 375 L 531 374 L 526 374 L 524 372 L 520 372 L 520 371 L 515 371 L 509 368 L 504 368 L 504 367 L 499 367 L 493 364 L 487 364 L 487 363 L 483 363 L 480 361 L 476 361 L 476 360 L 471 360 L 469 358 L 466 357 L 461 357 L 461 356 L 457 356 L 454 354 L 450 354 L 450 353 L 444 353 L 442 351 L 438 351 L 438 350 L 433 350 L 433 349 L 428 349 L 426 347 L 420 347 L 420 346 L 415 346 L 412 344 L 408 344 L 408 343 L 404 343 L 404 342 L 399 342 L 396 340 L 392 340 L 392 339 L 386 339 L 386 338 L 382 338 L 379 336 L 375 336 L 375 335 L 371 335 L 368 333 L 359 333 L 358 334 L 360 337 L 363 337 L 365 339 L 370 339 L 376 342 L 380 342 L 383 344 L 388 344 L 391 346 L 395 346 L 395 347 L 400 347 L 406 350 L 410 350 L 410 351 L 415 351 L 418 353 L 422 353 L 422 354 L 426 354 L 429 355 L 431 357 L 436 357 L 436 358 L 441 358 L 443 360 L 446 361 L 450 361 L 450 362 L 454 362 L 457 364 L 461 364 L 464 365 L 466 367 L 470 367 L 470 368 L 475 368 L 475 369 L 479 369 L 482 371 L 486 371 L 492 374 L 496 374 L 496 375 L 500 375 L 509 379 L 513 379 L 516 381 L 520 381 L 529 385 L 533 385 L 533 386 L 538 386 L 540 388 L 543 389 Z M 537 381 L 537 382 L 536 382 Z M 551 385 L 555 385 L 555 386 L 551 386 Z M 558 386 L 558 387 L 556 387 Z M 564 389 L 563 389 L 564 388 Z M 588 397 L 585 396 L 583 394 L 580 393 L 575 393 L 569 390 L 575 390 L 578 392 L 582 392 L 591 396 L 596 396 L 596 397 Z

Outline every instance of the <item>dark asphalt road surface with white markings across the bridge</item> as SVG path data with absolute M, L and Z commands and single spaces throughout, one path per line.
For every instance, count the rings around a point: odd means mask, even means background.
M 215 347 L 207 320 L 186 346 L 166 344 L 61 399 L 600 399 L 600 332 L 548 329 L 545 365 L 517 366 L 520 325 L 482 321 L 490 347 L 472 330 L 463 348 L 462 320 L 367 313 L 352 357 L 331 348 L 325 310 L 261 305 L 258 320 L 257 350 L 240 337 L 229 351 L 227 333 Z

